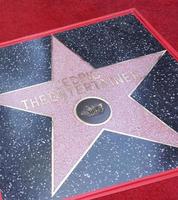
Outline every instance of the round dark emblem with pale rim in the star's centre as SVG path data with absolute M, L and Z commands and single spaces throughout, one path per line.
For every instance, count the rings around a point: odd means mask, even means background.
M 75 107 L 77 118 L 88 125 L 101 125 L 111 117 L 109 104 L 97 97 L 88 97 L 78 102 Z

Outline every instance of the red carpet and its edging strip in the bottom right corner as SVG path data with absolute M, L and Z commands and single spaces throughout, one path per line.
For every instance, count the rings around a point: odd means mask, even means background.
M 178 170 L 68 200 L 177 200 Z M 143 181 L 142 181 L 143 180 Z

